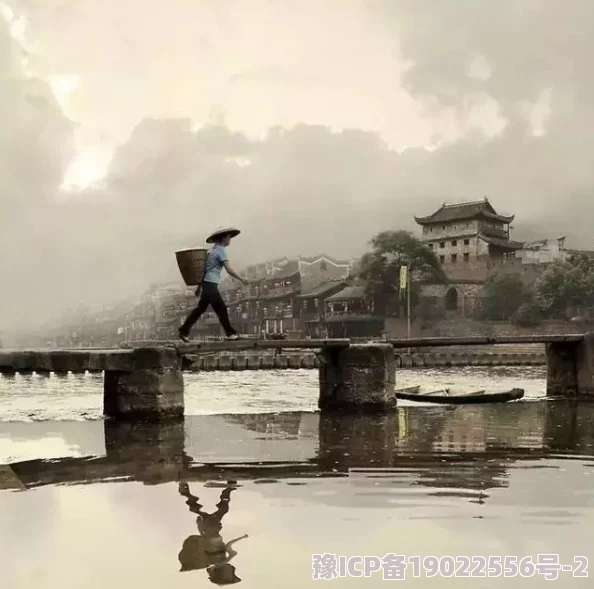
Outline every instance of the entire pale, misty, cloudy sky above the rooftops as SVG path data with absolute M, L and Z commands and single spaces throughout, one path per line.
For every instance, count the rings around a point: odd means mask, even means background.
M 0 331 L 488 196 L 594 245 L 591 0 L 0 0 Z

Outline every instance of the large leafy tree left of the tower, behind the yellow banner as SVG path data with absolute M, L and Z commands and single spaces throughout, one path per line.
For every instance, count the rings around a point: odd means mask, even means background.
M 445 282 L 437 256 L 408 231 L 383 231 L 370 242 L 372 250 L 361 259 L 359 275 L 366 280 L 367 294 L 381 314 L 399 314 L 400 268 L 408 266 L 411 277 L 411 307 L 419 300 L 420 282 Z

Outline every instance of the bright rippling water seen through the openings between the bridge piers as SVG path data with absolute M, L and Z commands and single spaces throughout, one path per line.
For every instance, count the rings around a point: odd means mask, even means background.
M 317 409 L 316 370 L 186 373 L 184 378 L 187 415 Z M 100 374 L 0 375 L 0 420 L 101 419 L 102 382 Z M 526 400 L 544 396 L 546 385 L 544 368 L 528 366 L 399 370 L 397 382 L 398 386 L 521 387 Z

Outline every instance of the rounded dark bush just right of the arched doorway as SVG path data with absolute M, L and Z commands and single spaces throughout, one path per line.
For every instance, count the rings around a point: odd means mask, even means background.
M 518 275 L 492 274 L 484 287 L 484 318 L 489 321 L 507 321 L 531 300 L 531 291 Z

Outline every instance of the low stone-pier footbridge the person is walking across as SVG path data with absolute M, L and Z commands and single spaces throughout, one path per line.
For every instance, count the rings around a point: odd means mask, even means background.
M 360 344 L 348 339 L 238 340 L 124 349 L 0 350 L 0 372 L 103 372 L 104 414 L 117 419 L 181 417 L 187 356 L 225 350 L 311 349 L 320 360 L 322 411 L 391 411 L 396 407 L 398 350 L 443 346 L 545 344 L 547 395 L 594 398 L 594 334 L 421 338 Z

